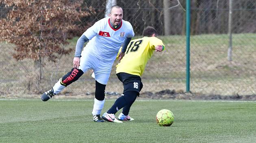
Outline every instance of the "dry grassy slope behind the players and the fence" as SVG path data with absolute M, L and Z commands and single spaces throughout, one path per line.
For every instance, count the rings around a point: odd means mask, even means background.
M 142 92 L 160 90 L 186 90 L 186 41 L 185 36 L 161 36 L 167 47 L 163 53 L 154 53 L 142 76 Z M 256 94 L 256 34 L 234 34 L 232 61 L 227 60 L 227 35 L 191 36 L 191 83 L 194 93 L 218 95 Z M 76 38 L 68 47 L 76 45 Z M 15 61 L 11 54 L 14 46 L 0 44 L 0 95 L 2 97 L 38 96 L 72 68 L 73 53 L 62 56 L 57 63 L 44 59 L 42 80 L 33 61 Z M 115 65 L 106 91 L 122 93 L 123 86 L 115 76 Z M 63 95 L 85 95 L 94 92 L 91 73 L 85 73 L 71 84 Z

